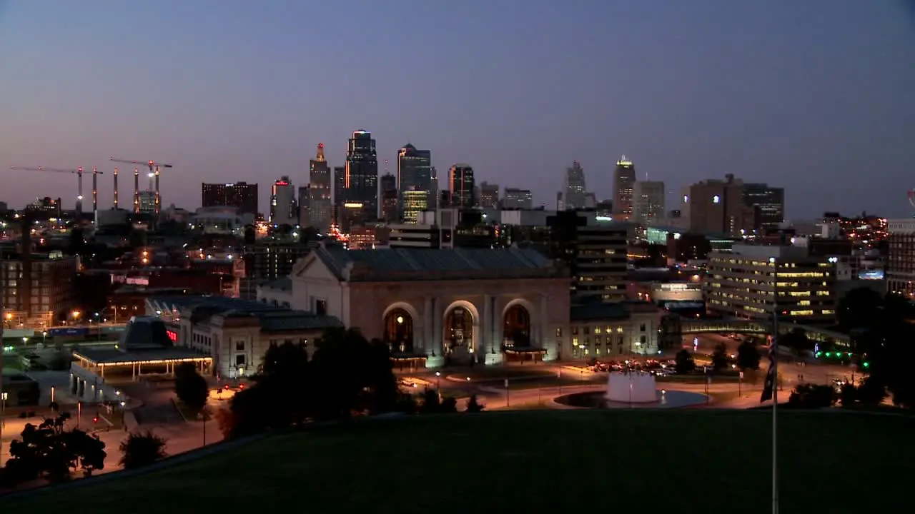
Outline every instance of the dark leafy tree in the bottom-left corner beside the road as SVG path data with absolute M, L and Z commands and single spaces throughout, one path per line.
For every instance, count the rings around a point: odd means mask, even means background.
M 102 469 L 105 444 L 81 430 L 65 430 L 69 418 L 64 413 L 47 418 L 38 426 L 28 423 L 21 439 L 9 445 L 10 459 L 5 465 L 4 479 L 12 483 L 36 478 L 60 482 L 69 479 L 76 469 L 82 469 L 87 476 Z

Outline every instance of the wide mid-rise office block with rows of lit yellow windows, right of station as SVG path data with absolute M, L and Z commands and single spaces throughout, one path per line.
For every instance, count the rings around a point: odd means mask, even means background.
M 833 323 L 836 261 L 800 246 L 735 244 L 731 252 L 710 252 L 706 308 L 725 316 L 770 320 L 778 298 L 781 321 Z

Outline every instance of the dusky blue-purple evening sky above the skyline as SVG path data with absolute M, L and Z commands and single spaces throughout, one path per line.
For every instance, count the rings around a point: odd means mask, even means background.
M 9 166 L 175 164 L 200 182 L 307 183 L 364 128 L 554 205 L 565 166 L 610 196 L 621 154 L 680 187 L 786 187 L 791 219 L 908 216 L 915 10 L 901 0 L 0 0 L 0 200 L 75 197 Z M 122 178 L 122 198 L 132 194 Z M 90 182 L 86 181 L 86 194 Z

